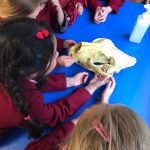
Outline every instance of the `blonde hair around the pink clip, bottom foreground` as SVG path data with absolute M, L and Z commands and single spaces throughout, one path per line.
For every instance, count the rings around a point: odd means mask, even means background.
M 106 129 L 105 142 L 92 122 L 98 119 Z M 67 150 L 150 150 L 150 132 L 131 109 L 101 104 L 85 111 L 74 128 Z

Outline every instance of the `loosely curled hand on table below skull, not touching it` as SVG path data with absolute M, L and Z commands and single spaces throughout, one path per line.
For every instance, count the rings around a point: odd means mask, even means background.
M 76 75 L 67 78 L 67 87 L 81 85 L 83 83 L 86 83 L 87 79 L 88 79 L 87 72 L 77 73 Z

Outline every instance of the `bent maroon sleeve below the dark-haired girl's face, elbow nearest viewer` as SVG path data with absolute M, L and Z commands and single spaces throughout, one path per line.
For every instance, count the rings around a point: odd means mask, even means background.
M 91 97 L 86 89 L 81 88 L 54 103 L 44 104 L 43 96 L 34 83 L 26 80 L 19 87 L 22 89 L 21 96 L 28 104 L 30 116 L 50 127 L 73 115 Z

